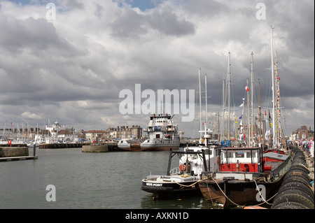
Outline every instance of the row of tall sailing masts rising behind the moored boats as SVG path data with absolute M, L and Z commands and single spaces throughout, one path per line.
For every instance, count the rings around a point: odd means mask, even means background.
M 273 43 L 272 43 L 272 30 L 273 28 L 271 27 L 271 52 L 272 52 L 272 118 L 270 117 L 270 114 L 268 112 L 268 117 L 267 120 L 269 121 L 269 129 L 267 129 L 267 127 L 265 128 L 265 124 L 262 124 L 262 120 L 264 120 L 264 115 L 261 113 L 261 106 L 260 106 L 260 80 L 258 79 L 259 82 L 259 106 L 258 106 L 258 120 L 259 120 L 259 128 L 258 128 L 258 132 L 256 131 L 256 134 L 254 133 L 254 122 L 255 122 L 255 116 L 253 113 L 253 92 L 254 92 L 254 78 L 253 78 L 253 52 L 251 52 L 251 97 L 249 96 L 249 89 L 246 90 L 247 93 L 247 137 L 246 137 L 246 141 L 243 141 L 246 143 L 246 146 L 254 146 L 254 145 L 258 145 L 258 143 L 262 143 L 265 144 L 265 137 L 267 136 L 265 134 L 266 131 L 271 131 L 272 130 L 272 134 L 270 134 L 271 138 L 272 138 L 272 143 L 268 142 L 270 147 L 272 148 L 276 148 L 279 147 L 280 145 L 280 141 L 281 139 L 283 139 L 283 135 L 282 131 L 281 131 L 281 124 L 280 124 L 280 103 L 279 103 L 279 73 L 278 73 L 278 68 L 277 68 L 277 62 L 274 63 L 274 50 L 273 50 Z M 276 59 L 276 57 L 275 57 Z M 225 79 L 223 78 L 223 129 L 221 131 L 220 134 L 220 115 L 218 114 L 218 139 L 220 141 L 230 141 L 231 140 L 231 115 L 230 115 L 230 75 L 231 75 L 231 71 L 230 71 L 230 52 L 228 53 L 228 73 L 227 73 L 227 82 L 225 82 Z M 276 70 L 276 72 L 274 72 L 274 70 Z M 200 75 L 201 71 L 199 69 L 199 89 L 200 89 L 200 129 L 202 129 L 202 112 L 201 112 L 201 75 Z M 275 77 L 275 73 L 276 73 L 276 77 Z M 208 124 L 208 108 L 207 108 L 207 74 L 205 74 L 205 89 L 206 89 L 206 124 L 204 125 L 204 131 L 200 131 L 200 139 L 202 138 L 202 132 L 204 132 L 204 134 L 208 134 L 209 129 L 207 129 L 207 124 Z M 225 87 L 227 88 L 227 92 L 228 92 L 228 100 L 225 101 Z M 248 78 L 246 81 L 246 87 L 248 87 Z M 241 136 L 245 136 L 244 134 L 244 127 L 245 127 L 245 123 L 244 123 L 244 106 L 245 106 L 245 98 L 242 99 L 242 114 L 241 114 L 241 123 L 239 124 L 239 137 L 235 137 L 235 131 L 234 131 L 234 139 L 235 138 L 239 138 L 241 139 Z M 225 130 L 225 105 L 228 106 L 228 135 L 225 136 L 226 130 Z M 265 113 L 265 115 L 267 115 Z M 236 118 L 235 118 L 236 120 Z M 234 123 L 235 123 L 234 120 Z M 271 122 L 272 120 L 272 122 Z M 257 124 L 256 124 L 257 126 Z

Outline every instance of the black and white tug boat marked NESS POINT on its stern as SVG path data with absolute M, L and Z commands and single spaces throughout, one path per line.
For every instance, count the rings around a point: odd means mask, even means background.
M 217 145 L 186 147 L 184 151 L 169 152 L 166 175 L 148 175 L 142 180 L 141 189 L 154 194 L 155 198 L 200 194 L 198 182 L 202 171 L 218 168 Z M 179 166 L 172 168 L 172 158 L 180 157 Z M 208 166 L 208 167 L 207 167 Z

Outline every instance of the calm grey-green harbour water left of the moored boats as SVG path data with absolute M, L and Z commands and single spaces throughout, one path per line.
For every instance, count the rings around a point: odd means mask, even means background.
M 167 151 L 85 153 L 81 148 L 37 148 L 36 155 L 35 160 L 0 162 L 0 208 L 213 208 L 202 195 L 153 200 L 151 193 L 140 189 L 146 175 L 166 173 Z M 56 201 L 46 201 L 48 185 L 55 186 Z

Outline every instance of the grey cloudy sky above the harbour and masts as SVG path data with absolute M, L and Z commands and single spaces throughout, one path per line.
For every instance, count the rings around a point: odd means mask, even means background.
M 0 129 L 10 122 L 13 128 L 43 127 L 56 118 L 76 129 L 145 128 L 148 115 L 122 114 L 120 92 L 130 89 L 136 97 L 136 84 L 153 90 L 158 113 L 158 89 L 197 92 L 199 68 L 202 85 L 207 73 L 214 123 L 223 107 L 228 52 L 231 111 L 241 115 L 251 52 L 254 107 L 259 80 L 262 110 L 268 110 L 270 26 L 284 131 L 289 135 L 303 124 L 314 130 L 312 0 L 0 0 Z M 195 136 L 198 122 L 182 122 L 182 116 L 174 116 L 179 129 Z

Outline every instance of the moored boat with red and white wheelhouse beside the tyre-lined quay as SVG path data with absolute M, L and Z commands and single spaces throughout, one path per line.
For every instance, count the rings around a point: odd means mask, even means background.
M 207 201 L 223 208 L 256 205 L 276 194 L 291 161 L 289 155 L 264 153 L 262 148 L 224 148 L 220 170 L 204 173 L 200 190 Z

